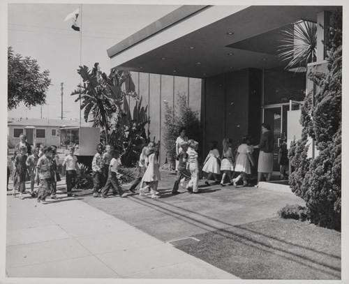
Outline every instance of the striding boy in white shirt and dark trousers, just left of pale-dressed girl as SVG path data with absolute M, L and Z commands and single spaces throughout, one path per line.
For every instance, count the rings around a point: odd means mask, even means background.
M 110 160 L 109 166 L 109 175 L 107 183 L 105 184 L 102 190 L 102 197 L 107 198 L 107 193 L 110 189 L 110 186 L 113 188 L 114 193 L 119 193 L 120 197 L 127 197 L 127 193 L 124 193 L 124 190 L 121 189 L 119 185 L 119 180 L 117 179 L 117 168 L 121 165 L 119 151 L 112 151 L 112 160 Z M 116 195 L 116 194 L 114 194 Z

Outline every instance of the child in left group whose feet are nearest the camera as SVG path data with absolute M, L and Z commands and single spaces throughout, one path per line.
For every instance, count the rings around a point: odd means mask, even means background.
M 38 159 L 38 164 L 36 165 L 35 181 L 40 186 L 38 188 L 38 202 L 46 204 L 46 197 L 50 194 L 51 186 L 51 160 L 52 148 L 43 148 L 43 156 Z

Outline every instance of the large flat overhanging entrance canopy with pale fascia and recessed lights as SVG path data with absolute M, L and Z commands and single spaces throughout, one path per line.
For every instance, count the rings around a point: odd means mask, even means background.
M 111 67 L 205 78 L 276 68 L 281 30 L 334 6 L 181 6 L 107 50 Z

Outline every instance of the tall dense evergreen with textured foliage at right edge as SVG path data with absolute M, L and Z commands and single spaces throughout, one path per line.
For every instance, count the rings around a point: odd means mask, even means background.
M 342 98 L 342 13 L 331 18 L 327 43 L 327 73 L 315 68 L 309 79 L 320 91 L 306 96 L 302 107 L 302 138 L 290 149 L 292 192 L 306 201 L 311 222 L 341 230 L 341 98 Z M 307 157 L 308 139 L 315 141 L 318 156 Z

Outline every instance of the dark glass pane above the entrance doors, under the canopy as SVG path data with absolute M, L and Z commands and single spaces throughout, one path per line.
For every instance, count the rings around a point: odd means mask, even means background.
M 306 73 L 265 70 L 264 105 L 302 101 L 306 94 Z

